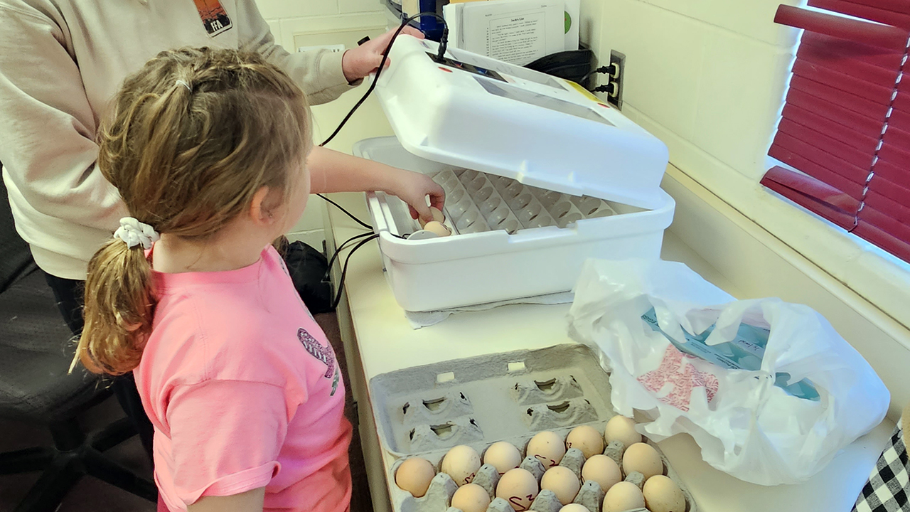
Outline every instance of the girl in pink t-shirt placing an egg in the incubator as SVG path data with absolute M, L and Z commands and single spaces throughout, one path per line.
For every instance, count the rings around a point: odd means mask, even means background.
M 164 52 L 112 109 L 98 166 L 132 217 L 89 263 L 77 357 L 134 371 L 159 509 L 347 510 L 344 382 L 270 243 L 311 189 L 384 189 L 428 220 L 441 189 L 311 153 L 303 93 L 256 55 Z

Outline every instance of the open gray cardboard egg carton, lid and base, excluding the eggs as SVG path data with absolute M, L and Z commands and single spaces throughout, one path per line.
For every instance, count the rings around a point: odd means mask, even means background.
M 380 445 L 397 459 L 387 476 L 396 512 L 460 512 L 450 507 L 457 484 L 440 473 L 442 457 L 452 446 L 470 445 L 482 458 L 489 445 L 509 441 L 526 455 L 528 442 L 538 432 L 549 430 L 563 439 L 578 425 L 591 425 L 603 432 L 615 415 L 609 375 L 589 347 L 574 343 L 417 366 L 377 375 L 369 385 Z M 682 489 L 686 512 L 697 512 L 692 495 L 666 456 L 657 445 L 647 442 L 660 454 L 663 474 Z M 604 455 L 622 467 L 624 449 L 622 443 L 614 441 L 605 446 Z M 395 471 L 408 456 L 420 456 L 436 467 L 438 474 L 424 497 L 412 497 L 395 485 Z M 560 466 L 581 476 L 583 464 L 581 451 L 570 449 Z M 544 468 L 537 459 L 525 457 L 520 467 L 536 476 L 540 484 Z M 625 480 L 637 486 L 644 484 L 639 473 L 627 475 Z M 474 478 L 474 483 L 490 493 L 487 512 L 514 512 L 506 500 L 495 498 L 498 481 L 499 474 L 489 465 L 481 466 Z M 600 486 L 588 481 L 581 486 L 575 503 L 591 512 L 602 512 L 603 496 Z M 558 512 L 558 505 L 555 495 L 543 490 L 531 509 Z

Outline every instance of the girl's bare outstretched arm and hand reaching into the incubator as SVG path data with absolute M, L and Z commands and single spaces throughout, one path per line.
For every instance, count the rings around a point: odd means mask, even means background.
M 445 191 L 425 174 L 397 169 L 317 146 L 309 153 L 310 193 L 382 190 L 410 205 L 411 217 L 433 220 L 430 206 L 442 210 Z

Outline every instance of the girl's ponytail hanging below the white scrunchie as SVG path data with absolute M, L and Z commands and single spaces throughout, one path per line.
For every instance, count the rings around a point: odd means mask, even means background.
M 152 331 L 152 268 L 142 245 L 111 239 L 88 262 L 86 325 L 76 359 L 95 373 L 126 374 L 139 364 Z M 73 366 L 76 365 L 76 359 Z

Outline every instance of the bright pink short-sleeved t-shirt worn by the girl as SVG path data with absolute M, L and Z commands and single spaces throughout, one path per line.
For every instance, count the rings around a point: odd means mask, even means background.
M 278 252 L 237 271 L 154 279 L 135 374 L 167 507 L 265 486 L 265 510 L 347 510 L 344 383 Z

